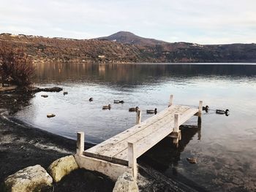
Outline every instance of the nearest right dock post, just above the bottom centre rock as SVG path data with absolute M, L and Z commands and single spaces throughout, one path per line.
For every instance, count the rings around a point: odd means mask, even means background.
M 133 142 L 128 142 L 128 166 L 132 168 L 132 176 L 137 179 L 137 158 L 136 158 L 136 149 Z

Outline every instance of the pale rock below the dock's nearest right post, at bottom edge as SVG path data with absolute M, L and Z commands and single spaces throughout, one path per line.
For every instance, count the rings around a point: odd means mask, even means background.
M 139 191 L 138 185 L 132 174 L 124 172 L 118 177 L 113 192 L 137 192 Z

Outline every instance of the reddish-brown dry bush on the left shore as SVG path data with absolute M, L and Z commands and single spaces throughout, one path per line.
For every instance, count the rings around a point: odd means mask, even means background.
M 23 48 L 14 48 L 7 42 L 1 42 L 0 75 L 2 84 L 9 79 L 12 84 L 20 87 L 30 85 L 34 70 L 34 64 Z

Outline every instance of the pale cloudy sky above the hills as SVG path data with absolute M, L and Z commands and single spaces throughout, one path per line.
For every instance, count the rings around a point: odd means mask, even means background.
M 256 0 L 0 0 L 0 33 L 91 39 L 118 31 L 166 42 L 256 43 Z

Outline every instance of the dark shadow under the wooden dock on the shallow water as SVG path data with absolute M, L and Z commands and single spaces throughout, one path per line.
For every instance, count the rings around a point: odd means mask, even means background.
M 207 191 L 206 188 L 201 187 L 198 183 L 189 180 L 184 175 L 178 172 L 179 162 L 186 161 L 181 158 L 181 153 L 185 147 L 189 144 L 189 141 L 193 137 L 200 140 L 201 127 L 199 126 L 188 126 L 182 125 L 181 129 L 181 140 L 178 141 L 178 146 L 173 142 L 173 138 L 165 137 L 157 145 L 152 147 L 146 153 L 144 153 L 138 162 L 140 164 L 146 164 L 156 169 L 157 171 L 164 174 L 166 177 L 171 178 L 177 182 L 186 183 L 189 187 L 196 191 Z

